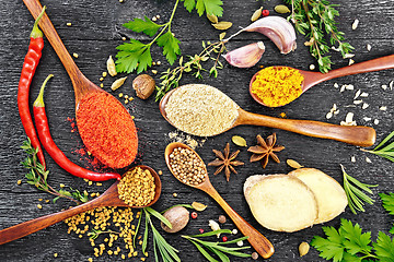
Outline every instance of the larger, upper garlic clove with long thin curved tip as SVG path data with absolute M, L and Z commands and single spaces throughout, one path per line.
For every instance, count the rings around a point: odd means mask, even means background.
M 223 41 L 230 40 L 242 32 L 258 32 L 267 36 L 279 48 L 281 53 L 289 53 L 297 48 L 294 27 L 281 16 L 270 15 L 259 19 Z

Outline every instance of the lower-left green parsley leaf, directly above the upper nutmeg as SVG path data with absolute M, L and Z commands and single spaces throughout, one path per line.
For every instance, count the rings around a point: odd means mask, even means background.
M 150 45 L 144 45 L 139 40 L 131 39 L 116 47 L 116 71 L 131 73 L 137 70 L 140 73 L 152 64 Z

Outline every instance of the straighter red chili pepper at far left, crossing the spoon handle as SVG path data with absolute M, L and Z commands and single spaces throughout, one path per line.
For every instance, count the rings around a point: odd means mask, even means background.
M 39 145 L 37 133 L 34 129 L 32 115 L 28 108 L 28 93 L 33 75 L 38 66 L 39 59 L 42 57 L 42 50 L 44 48 L 43 32 L 38 28 L 38 22 L 44 15 L 45 9 L 46 8 L 44 7 L 42 13 L 34 22 L 34 26 L 30 35 L 31 40 L 28 45 L 28 50 L 23 62 L 22 73 L 18 86 L 18 109 L 21 116 L 22 124 L 27 138 L 31 140 L 33 147 L 38 148 L 37 157 L 40 164 L 44 166 L 44 169 L 45 158 L 43 150 Z

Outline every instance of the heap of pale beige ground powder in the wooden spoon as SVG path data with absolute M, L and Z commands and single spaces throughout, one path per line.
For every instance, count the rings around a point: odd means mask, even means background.
M 212 136 L 229 129 L 237 118 L 239 106 L 219 90 L 204 84 L 178 87 L 165 105 L 170 121 L 179 130 Z

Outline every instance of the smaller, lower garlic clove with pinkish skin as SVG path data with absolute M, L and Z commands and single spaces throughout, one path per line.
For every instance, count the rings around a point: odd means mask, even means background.
M 264 43 L 258 41 L 236 48 L 225 53 L 223 57 L 233 67 L 251 68 L 260 60 L 264 51 Z

